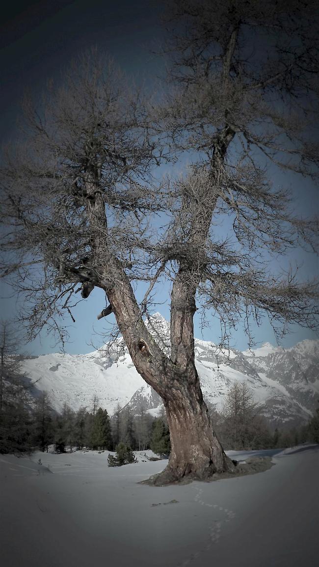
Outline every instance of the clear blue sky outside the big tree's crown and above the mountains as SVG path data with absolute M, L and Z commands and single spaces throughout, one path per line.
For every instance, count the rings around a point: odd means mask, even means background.
M 0 44 L 0 65 L 3 88 L 0 92 L 2 108 L 2 142 L 14 138 L 16 120 L 20 113 L 20 101 L 25 91 L 35 95 L 41 92 L 49 78 L 60 77 L 63 66 L 80 50 L 97 45 L 106 50 L 114 60 L 137 81 L 151 81 L 161 72 L 162 63 L 150 48 L 154 39 L 160 37 L 158 16 L 160 3 L 152 0 L 118 0 L 118 2 L 91 0 L 58 0 L 56 2 L 15 2 L 7 6 L 3 14 Z M 280 176 L 275 179 L 280 184 Z M 287 177 L 285 179 L 287 182 Z M 309 180 L 290 175 L 288 182 L 296 197 L 296 211 L 309 215 L 318 210 L 316 189 Z M 304 278 L 318 275 L 318 259 L 310 252 L 294 251 L 284 264 L 301 265 Z M 276 264 L 277 263 L 277 264 Z M 282 266 L 283 260 L 274 260 L 274 271 Z M 139 291 L 142 295 L 142 289 Z M 16 298 L 12 290 L 1 284 L 1 311 L 3 318 L 10 318 L 16 309 Z M 161 289 L 156 311 L 169 319 L 168 288 Z M 79 304 L 74 312 L 75 323 L 70 321 L 70 342 L 66 352 L 90 352 L 103 343 L 99 334 L 107 330 L 105 320 L 97 321 L 96 316 L 105 306 L 104 294 L 94 290 L 86 301 Z M 113 321 L 113 316 L 110 316 Z M 201 321 L 195 315 L 195 336 L 213 342 L 219 341 L 219 322 L 209 320 L 209 327 L 201 329 Z M 317 338 L 313 332 L 292 327 L 293 333 L 284 337 L 283 346 L 291 346 L 304 338 Z M 274 332 L 267 319 L 260 328 L 255 327 L 255 338 L 259 343 L 269 341 L 275 344 Z M 244 350 L 247 340 L 242 329 L 234 333 L 231 345 Z M 27 346 L 32 354 L 44 354 L 58 350 L 53 337 L 42 333 Z

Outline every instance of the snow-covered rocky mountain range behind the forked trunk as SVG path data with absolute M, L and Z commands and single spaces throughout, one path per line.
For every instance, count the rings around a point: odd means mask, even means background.
M 169 353 L 169 325 L 155 314 L 147 322 L 150 331 Z M 299 425 L 319 405 L 319 341 L 306 340 L 290 349 L 269 343 L 240 352 L 220 350 L 214 343 L 195 339 L 195 364 L 204 399 L 220 410 L 234 382 L 247 382 L 256 401 L 273 426 Z M 93 397 L 112 415 L 117 408 L 141 408 L 154 416 L 163 405 L 159 395 L 135 370 L 122 341 L 85 355 L 46 354 L 23 362 L 23 370 L 35 384 L 35 394 L 47 391 L 52 405 L 61 411 L 90 409 Z

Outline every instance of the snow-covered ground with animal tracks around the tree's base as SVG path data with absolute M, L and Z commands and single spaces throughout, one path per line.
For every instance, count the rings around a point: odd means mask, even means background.
M 147 451 L 147 454 L 150 454 Z M 107 467 L 108 452 L 0 455 L 6 567 L 310 567 L 318 540 L 319 446 L 271 455 L 257 475 L 151 487 L 167 462 Z M 41 459 L 42 464 L 38 464 Z

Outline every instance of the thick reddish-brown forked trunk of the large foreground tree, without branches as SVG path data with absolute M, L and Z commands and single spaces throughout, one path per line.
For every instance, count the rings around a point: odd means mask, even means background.
M 142 378 L 159 393 L 164 401 L 171 435 L 172 452 L 165 471 L 150 479 L 150 483 L 163 485 L 182 480 L 207 480 L 215 473 L 231 472 L 233 463 L 224 454 L 203 401 L 194 359 L 193 317 L 196 311 L 193 261 L 180 261 L 171 293 L 171 353 L 167 357 L 142 319 L 123 264 L 105 246 L 101 227 L 107 228 L 104 201 L 98 193 L 99 176 L 88 171 L 87 192 L 93 194 L 88 205 L 88 218 L 96 228 L 92 239 L 95 265 L 101 259 L 107 269 L 96 270 L 100 280 L 95 281 L 107 293 L 110 311 L 116 316 L 118 327 L 125 340 L 135 368 Z M 184 203 L 186 213 L 189 196 Z M 184 202 L 184 201 L 183 201 Z M 205 241 L 210 226 L 212 208 L 201 215 L 200 239 Z M 183 205 L 183 206 L 184 206 Z M 186 214 L 185 213 L 185 214 Z M 197 225 L 194 225 L 194 230 Z M 193 230 L 193 229 L 192 229 Z M 197 242 L 197 229 L 190 235 Z M 105 261 L 107 259 L 107 263 Z

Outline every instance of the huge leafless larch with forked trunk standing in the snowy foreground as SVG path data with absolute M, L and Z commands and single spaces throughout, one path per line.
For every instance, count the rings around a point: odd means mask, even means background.
M 314 242 L 315 223 L 294 217 L 266 170 L 316 173 L 312 3 L 176 0 L 167 21 L 177 31 L 165 49 L 165 100 L 147 105 L 112 65 L 88 56 L 28 107 L 24 139 L 2 168 L 2 273 L 24 289 L 32 331 L 46 324 L 62 338 L 58 316 L 72 315 L 74 293 L 105 292 L 99 318 L 113 311 L 165 406 L 172 450 L 155 484 L 234 470 L 199 385 L 195 311 L 218 315 L 226 342 L 239 321 L 249 334 L 249 318 L 265 313 L 277 327 L 313 327 L 317 298 L 314 284 L 273 276 L 265 260 Z M 152 172 L 167 153 L 193 164 L 157 185 Z M 165 280 L 169 346 L 143 319 Z M 148 290 L 138 302 L 141 281 Z

